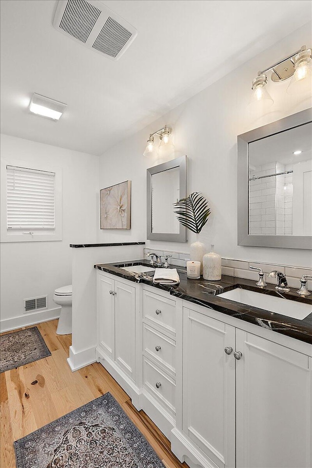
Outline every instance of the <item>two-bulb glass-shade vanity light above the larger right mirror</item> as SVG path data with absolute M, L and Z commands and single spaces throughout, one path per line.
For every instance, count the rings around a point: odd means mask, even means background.
M 266 89 L 268 82 L 267 72 L 272 71 L 271 80 L 274 83 L 284 81 L 291 78 L 291 82 L 287 88 L 287 93 L 292 94 L 296 92 L 306 92 L 311 90 L 311 77 L 312 77 L 312 50 L 307 49 L 305 45 L 297 50 L 294 54 L 286 59 L 274 63 L 265 70 L 259 71 L 258 75 L 253 80 L 253 94 L 249 101 L 249 105 L 254 107 L 259 104 L 271 106 L 273 98 L 270 96 Z

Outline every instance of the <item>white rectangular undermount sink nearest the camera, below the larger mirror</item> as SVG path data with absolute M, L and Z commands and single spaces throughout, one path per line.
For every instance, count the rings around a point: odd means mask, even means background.
M 246 289 L 236 288 L 232 291 L 222 292 L 218 297 L 229 299 L 234 302 L 240 302 L 248 306 L 258 307 L 266 311 L 286 315 L 287 317 L 303 320 L 312 313 L 311 304 L 283 299 L 261 292 L 248 291 Z

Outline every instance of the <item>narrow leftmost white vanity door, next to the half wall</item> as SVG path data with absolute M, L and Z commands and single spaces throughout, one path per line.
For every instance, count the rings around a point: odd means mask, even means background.
M 115 300 L 110 291 L 115 290 L 115 281 L 98 274 L 98 333 L 99 345 L 115 359 Z

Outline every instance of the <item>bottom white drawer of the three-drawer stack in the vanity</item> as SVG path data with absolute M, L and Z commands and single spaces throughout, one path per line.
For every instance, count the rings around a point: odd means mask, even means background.
M 175 381 L 145 357 L 143 357 L 143 385 L 161 405 L 173 415 L 176 414 Z

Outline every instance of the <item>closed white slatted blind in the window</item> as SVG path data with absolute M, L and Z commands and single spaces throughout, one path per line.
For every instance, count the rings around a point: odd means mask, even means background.
M 55 229 L 55 173 L 6 166 L 6 177 L 7 229 Z

